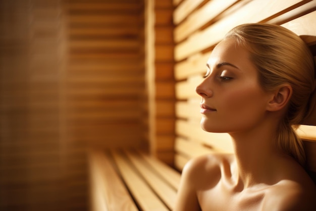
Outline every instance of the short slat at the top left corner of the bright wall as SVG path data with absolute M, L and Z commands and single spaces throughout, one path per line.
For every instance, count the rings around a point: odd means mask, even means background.
M 173 23 L 179 24 L 183 19 L 189 16 L 204 0 L 185 0 L 174 10 Z M 175 2 L 175 1 L 174 1 Z

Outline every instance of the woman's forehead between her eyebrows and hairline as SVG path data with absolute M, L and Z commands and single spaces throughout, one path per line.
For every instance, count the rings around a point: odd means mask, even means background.
M 212 51 L 207 61 L 208 65 L 229 62 L 242 69 L 243 66 L 252 65 L 250 53 L 243 47 L 237 45 L 234 39 L 222 40 Z

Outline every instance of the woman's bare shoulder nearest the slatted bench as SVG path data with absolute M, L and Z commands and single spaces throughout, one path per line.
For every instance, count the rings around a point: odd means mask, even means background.
M 230 168 L 231 154 L 214 153 L 191 159 L 183 168 L 182 176 L 195 190 L 212 188 L 221 179 L 221 168 Z

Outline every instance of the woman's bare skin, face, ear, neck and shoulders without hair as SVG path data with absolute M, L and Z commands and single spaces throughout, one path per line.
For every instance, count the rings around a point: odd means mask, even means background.
M 228 133 L 234 154 L 210 154 L 186 164 L 175 211 L 316 210 L 315 186 L 304 169 L 273 143 L 292 94 L 259 86 L 249 53 L 223 40 L 196 88 L 202 97 L 201 127 Z

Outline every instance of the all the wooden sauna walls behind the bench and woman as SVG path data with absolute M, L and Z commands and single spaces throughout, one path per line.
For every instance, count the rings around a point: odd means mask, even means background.
M 142 150 L 179 172 L 231 152 L 199 127 L 210 52 L 249 22 L 316 46 L 315 2 L 0 0 L 0 210 L 92 211 L 91 150 Z

